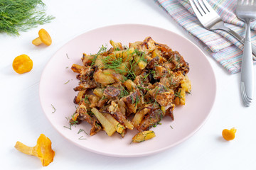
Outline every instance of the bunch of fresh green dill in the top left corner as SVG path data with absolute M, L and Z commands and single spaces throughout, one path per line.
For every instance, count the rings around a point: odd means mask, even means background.
M 47 16 L 42 0 L 1 0 L 0 33 L 19 35 L 19 31 L 49 23 L 53 16 Z

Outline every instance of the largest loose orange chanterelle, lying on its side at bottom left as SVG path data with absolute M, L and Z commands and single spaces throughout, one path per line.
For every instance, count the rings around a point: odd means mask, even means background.
M 38 157 L 41 160 L 43 166 L 48 166 L 50 162 L 53 162 L 53 157 L 55 155 L 55 152 L 51 148 L 50 139 L 43 134 L 38 137 L 35 147 L 28 147 L 23 145 L 21 142 L 16 142 L 15 148 L 24 154 Z

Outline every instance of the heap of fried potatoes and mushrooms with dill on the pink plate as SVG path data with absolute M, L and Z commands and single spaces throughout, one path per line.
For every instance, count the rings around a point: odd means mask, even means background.
M 149 129 L 166 115 L 174 120 L 174 108 L 185 105 L 191 92 L 188 63 L 151 37 L 129 47 L 113 40 L 110 45 L 95 55 L 84 53 L 82 65 L 71 67 L 80 82 L 74 88 L 78 107 L 70 125 L 86 121 L 92 125 L 90 135 L 105 130 L 122 137 L 137 129 L 132 142 L 149 140 L 155 136 Z

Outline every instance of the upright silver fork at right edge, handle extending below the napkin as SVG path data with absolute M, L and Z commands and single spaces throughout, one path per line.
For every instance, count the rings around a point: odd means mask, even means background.
M 250 106 L 254 91 L 250 22 L 256 19 L 256 0 L 238 0 L 236 14 L 245 22 L 245 47 L 242 55 L 241 93 L 245 106 Z

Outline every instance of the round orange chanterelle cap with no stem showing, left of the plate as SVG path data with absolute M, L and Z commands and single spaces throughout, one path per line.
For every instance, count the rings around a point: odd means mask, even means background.
M 28 55 L 19 55 L 14 59 L 12 66 L 15 72 L 23 74 L 31 71 L 33 68 L 33 61 Z

